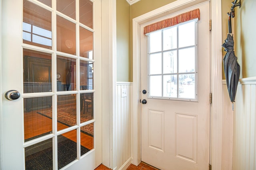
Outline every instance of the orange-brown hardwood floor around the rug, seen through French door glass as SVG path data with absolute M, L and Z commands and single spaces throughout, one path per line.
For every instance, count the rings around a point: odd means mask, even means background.
M 45 109 L 44 109 L 45 110 Z M 52 131 L 52 119 L 38 114 L 39 110 L 24 113 L 24 139 L 29 139 Z M 58 122 L 58 129 L 65 129 L 68 126 Z M 64 133 L 63 136 L 76 142 L 76 130 Z M 80 133 L 81 145 L 93 149 L 93 137 Z

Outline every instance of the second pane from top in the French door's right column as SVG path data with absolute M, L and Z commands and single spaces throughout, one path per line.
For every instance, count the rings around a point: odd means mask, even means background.
M 93 33 L 83 27 L 80 27 L 80 57 L 92 57 Z

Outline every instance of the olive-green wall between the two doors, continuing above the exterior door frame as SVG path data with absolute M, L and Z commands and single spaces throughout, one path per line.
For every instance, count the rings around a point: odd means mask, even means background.
M 132 82 L 132 19 L 175 0 L 140 0 L 130 6 L 116 0 L 116 80 Z

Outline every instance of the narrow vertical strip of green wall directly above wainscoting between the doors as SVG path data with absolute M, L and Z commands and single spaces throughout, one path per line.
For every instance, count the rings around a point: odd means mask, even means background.
M 130 4 L 116 0 L 116 80 L 132 82 Z

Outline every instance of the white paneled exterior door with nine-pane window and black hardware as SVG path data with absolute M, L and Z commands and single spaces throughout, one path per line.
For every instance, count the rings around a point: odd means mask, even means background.
M 141 26 L 141 160 L 161 170 L 209 166 L 209 4 Z M 147 25 L 199 11 L 200 17 L 144 35 Z

